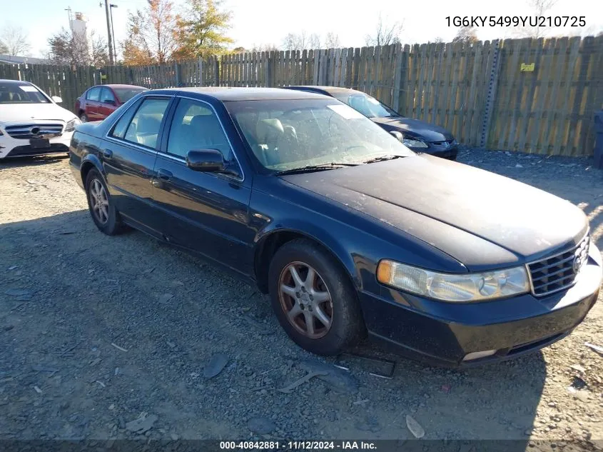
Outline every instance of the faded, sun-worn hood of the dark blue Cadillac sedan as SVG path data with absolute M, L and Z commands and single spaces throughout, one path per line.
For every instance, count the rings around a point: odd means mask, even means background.
M 530 261 L 579 243 L 588 229 L 584 213 L 569 201 L 433 156 L 281 177 L 410 233 L 468 267 Z

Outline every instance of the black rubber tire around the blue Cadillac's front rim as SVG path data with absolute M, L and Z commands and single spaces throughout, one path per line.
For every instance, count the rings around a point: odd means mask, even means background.
M 308 314 L 308 310 L 312 311 L 312 306 L 315 306 L 313 304 L 305 304 L 304 306 L 303 303 L 313 303 L 313 301 L 309 301 L 308 298 L 303 301 L 302 298 L 299 298 L 305 296 L 301 292 L 300 296 L 296 292 L 295 296 L 298 298 L 293 298 L 293 295 L 287 295 L 284 292 L 281 293 L 280 287 L 284 281 L 285 272 L 290 271 L 291 266 L 298 265 L 300 265 L 298 267 L 300 269 L 299 276 L 302 275 L 303 265 L 313 268 L 318 276 L 315 279 L 320 280 L 320 286 L 325 289 L 313 293 L 328 293 L 330 296 L 330 301 L 323 302 L 323 307 L 320 309 L 323 313 L 330 313 L 330 326 L 327 328 L 318 319 L 318 323 L 312 320 L 313 325 L 318 324 L 318 330 L 321 326 L 323 327 L 323 331 L 317 333 L 323 334 L 320 337 L 311 338 L 308 331 L 305 333 L 300 331 L 304 329 L 304 326 L 308 330 L 308 317 L 305 317 L 305 315 Z M 365 336 L 365 324 L 360 311 L 360 303 L 358 303 L 358 296 L 349 276 L 328 251 L 325 251 L 313 241 L 298 238 L 278 248 L 270 262 L 268 278 L 270 298 L 278 321 L 288 336 L 301 348 L 318 355 L 337 355 Z M 295 279 L 293 273 L 290 273 L 290 278 L 293 282 L 293 279 Z M 304 283 L 308 281 L 308 273 L 305 273 L 305 278 Z M 290 286 L 290 284 L 285 285 Z M 295 284 L 295 287 L 297 287 L 297 284 Z M 303 290 L 305 291 L 305 289 Z M 290 301 L 290 306 L 300 305 L 302 309 L 305 308 L 306 312 L 298 313 L 295 321 L 290 321 L 287 312 L 293 313 L 293 307 L 287 311 L 288 307 L 285 306 L 287 300 Z M 316 308 L 315 312 L 318 312 Z M 312 329 L 314 331 L 315 327 L 313 326 Z

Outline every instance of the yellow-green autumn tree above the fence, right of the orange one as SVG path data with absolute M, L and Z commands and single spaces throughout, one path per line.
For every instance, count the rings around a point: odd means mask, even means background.
M 188 0 L 186 10 L 178 18 L 179 49 L 176 59 L 223 54 L 233 42 L 226 31 L 232 13 L 220 9 L 221 0 Z

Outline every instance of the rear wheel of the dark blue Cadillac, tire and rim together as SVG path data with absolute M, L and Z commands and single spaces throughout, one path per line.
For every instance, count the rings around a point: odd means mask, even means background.
M 123 228 L 118 211 L 111 202 L 111 196 L 101 174 L 91 169 L 86 176 L 86 198 L 88 209 L 96 227 L 108 236 L 113 236 Z

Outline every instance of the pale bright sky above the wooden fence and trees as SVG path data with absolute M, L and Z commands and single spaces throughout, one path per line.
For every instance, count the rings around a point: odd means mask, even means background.
M 176 5 L 184 0 L 174 0 Z M 128 12 L 143 8 L 146 0 L 111 0 L 116 40 L 126 38 Z M 51 34 L 69 27 L 67 8 L 88 16 L 88 27 L 106 37 L 104 1 L 101 0 L 0 0 L 1 27 L 21 26 L 29 35 L 31 56 L 46 56 L 46 40 Z M 379 17 L 385 24 L 403 22 L 401 39 L 404 44 L 420 44 L 441 38 L 451 41 L 458 27 L 448 24 L 454 16 L 527 16 L 534 14 L 529 0 L 223 0 L 223 7 L 232 11 L 230 37 L 234 47 L 280 45 L 288 33 L 320 34 L 333 32 L 344 47 L 365 45 L 365 36 L 375 31 Z M 27 14 L 24 14 L 27 12 Z M 556 30 L 557 36 L 597 34 L 603 31 L 603 6 L 600 0 L 557 0 L 549 11 L 551 16 L 584 16 L 586 26 Z M 480 27 L 481 40 L 514 36 L 513 27 Z

